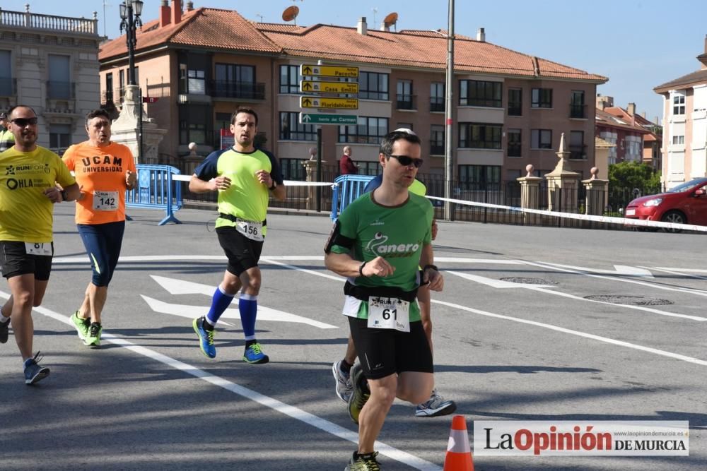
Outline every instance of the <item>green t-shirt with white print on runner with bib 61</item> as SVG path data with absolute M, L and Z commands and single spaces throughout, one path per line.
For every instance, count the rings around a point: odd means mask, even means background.
M 434 209 L 427 198 L 409 193 L 408 200 L 395 207 L 382 206 L 373 201 L 373 192 L 365 193 L 339 216 L 337 231 L 341 236 L 354 240 L 353 251 L 334 244 L 334 254 L 349 254 L 361 261 L 371 261 L 382 256 L 395 267 L 395 273 L 378 276 L 356 277 L 354 284 L 363 287 L 390 286 L 412 291 L 418 285 L 417 273 L 422 247 L 432 240 Z M 359 318 L 368 318 L 368 303 L 361 303 Z M 420 311 L 416 302 L 410 304 L 410 321 L 419 321 Z

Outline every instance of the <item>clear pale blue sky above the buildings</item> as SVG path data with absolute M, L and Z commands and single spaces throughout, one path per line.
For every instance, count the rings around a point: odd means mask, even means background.
M 119 35 L 122 0 L 0 0 L 0 8 L 90 18 L 98 12 L 99 32 Z M 105 4 L 105 6 L 104 6 Z M 157 18 L 160 0 L 144 0 L 144 20 Z M 186 0 L 182 0 L 186 4 Z M 235 9 L 245 18 L 281 23 L 285 8 L 296 5 L 298 25 L 369 28 L 387 13 L 398 13 L 397 29 L 447 28 L 448 0 L 194 0 L 194 8 Z M 104 16 L 105 11 L 105 16 Z M 636 103 L 648 119 L 662 117 L 657 85 L 696 71 L 705 52 L 706 0 L 456 0 L 455 32 L 471 37 L 486 29 L 486 41 L 518 52 L 609 77 L 597 89 L 626 108 Z

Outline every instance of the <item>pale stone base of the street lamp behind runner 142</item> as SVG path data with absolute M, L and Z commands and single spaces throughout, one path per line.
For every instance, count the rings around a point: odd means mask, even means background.
M 142 143 L 144 152 L 140 153 L 140 88 L 138 85 L 127 85 L 123 107 L 118 119 L 110 126 L 113 142 L 127 145 L 135 157 L 135 163 L 157 162 L 157 147 L 167 133 L 166 129 L 158 129 L 147 114 L 142 114 Z

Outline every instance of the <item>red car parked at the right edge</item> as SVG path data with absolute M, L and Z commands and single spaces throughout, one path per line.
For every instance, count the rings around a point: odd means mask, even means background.
M 707 226 L 707 178 L 686 181 L 666 193 L 636 198 L 626 206 L 624 217 Z

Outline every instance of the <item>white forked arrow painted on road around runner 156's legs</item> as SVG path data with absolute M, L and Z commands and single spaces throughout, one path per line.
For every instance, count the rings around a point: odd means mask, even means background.
M 214 294 L 213 286 L 202 285 L 201 283 L 185 280 L 176 280 L 175 278 L 165 278 L 157 275 L 150 276 L 170 294 L 204 294 L 206 296 L 211 296 Z M 153 299 L 151 297 L 146 297 L 143 294 L 141 294 L 141 296 L 142 299 L 144 299 L 150 306 L 150 309 L 161 314 L 174 314 L 175 316 L 195 318 L 205 316 L 206 313 L 209 312 L 209 306 L 171 304 L 158 301 L 158 299 Z M 221 318 L 240 319 L 240 313 L 238 312 L 238 309 L 226 309 L 226 312 L 221 315 Z M 308 324 L 309 326 L 322 329 L 338 328 L 337 326 L 332 326 L 331 324 L 315 321 L 313 319 L 298 316 L 285 311 L 280 311 L 279 309 L 271 309 L 262 305 L 258 306 L 258 321 L 295 322 Z

